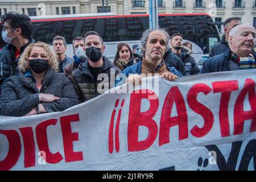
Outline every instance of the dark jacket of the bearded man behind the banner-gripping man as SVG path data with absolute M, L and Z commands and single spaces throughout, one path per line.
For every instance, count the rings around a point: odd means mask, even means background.
M 200 69 L 192 56 L 188 55 L 185 52 L 181 52 L 179 57 L 185 65 L 185 76 L 197 75 L 200 73 Z

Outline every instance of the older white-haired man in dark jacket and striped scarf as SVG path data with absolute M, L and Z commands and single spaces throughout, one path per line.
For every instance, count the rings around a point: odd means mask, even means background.
M 201 73 L 255 69 L 256 30 L 250 25 L 238 25 L 229 33 L 229 47 L 224 53 L 206 60 Z

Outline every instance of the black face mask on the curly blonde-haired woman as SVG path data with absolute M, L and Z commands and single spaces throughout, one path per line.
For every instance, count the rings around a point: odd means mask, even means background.
M 48 69 L 49 62 L 47 59 L 30 59 L 28 60 L 28 65 L 30 65 L 32 71 L 40 74 Z

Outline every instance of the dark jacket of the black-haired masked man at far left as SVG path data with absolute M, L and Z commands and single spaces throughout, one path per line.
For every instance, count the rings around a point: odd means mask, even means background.
M 35 42 L 33 38 L 30 38 L 30 41 L 20 47 L 20 55 L 24 51 L 24 49 L 32 42 Z M 6 78 L 18 75 L 18 59 L 15 59 L 15 47 L 11 44 L 7 44 L 3 49 L 0 51 L 0 85 L 1 88 L 3 87 L 3 82 L 5 82 Z M 1 93 L 1 92 L 0 92 Z

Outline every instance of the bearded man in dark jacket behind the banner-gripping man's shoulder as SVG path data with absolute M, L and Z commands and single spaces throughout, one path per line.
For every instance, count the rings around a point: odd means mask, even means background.
M 175 33 L 171 37 L 171 51 L 175 53 L 183 61 L 185 65 L 185 75 L 197 75 L 200 73 L 200 69 L 197 66 L 195 59 L 185 52 L 181 52 L 183 36 L 179 33 Z

